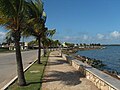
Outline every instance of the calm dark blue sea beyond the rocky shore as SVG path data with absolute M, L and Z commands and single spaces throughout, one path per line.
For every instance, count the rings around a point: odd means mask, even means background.
M 105 46 L 105 49 L 78 51 L 77 54 L 103 61 L 108 70 L 120 73 L 120 46 Z

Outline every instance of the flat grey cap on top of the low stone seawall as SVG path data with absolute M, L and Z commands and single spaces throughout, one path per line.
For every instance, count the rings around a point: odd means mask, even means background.
M 72 61 L 79 66 L 83 66 L 85 68 L 85 70 L 92 73 L 93 75 L 95 75 L 100 80 L 104 81 L 106 84 L 110 85 L 114 89 L 120 90 L 120 80 L 118 80 L 118 79 L 116 79 L 116 78 L 96 69 L 96 68 L 93 68 L 92 66 L 85 64 L 77 59 L 72 59 Z

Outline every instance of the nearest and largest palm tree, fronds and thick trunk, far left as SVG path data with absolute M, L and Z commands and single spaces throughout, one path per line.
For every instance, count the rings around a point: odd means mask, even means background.
M 24 5 L 24 0 L 0 0 L 0 25 L 4 25 L 12 31 L 16 47 L 17 73 L 20 86 L 26 85 L 19 44 L 22 22 L 24 21 Z

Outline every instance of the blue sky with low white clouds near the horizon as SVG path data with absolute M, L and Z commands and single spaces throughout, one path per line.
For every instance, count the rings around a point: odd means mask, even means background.
M 53 39 L 72 43 L 120 44 L 120 0 L 43 0 Z M 5 35 L 0 28 L 0 41 Z

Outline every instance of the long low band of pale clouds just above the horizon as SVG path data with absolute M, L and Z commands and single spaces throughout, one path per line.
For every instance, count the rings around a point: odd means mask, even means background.
M 120 43 L 120 31 L 113 31 L 110 33 L 97 33 L 96 35 L 83 34 L 74 36 L 59 37 L 63 42 L 75 43 Z

